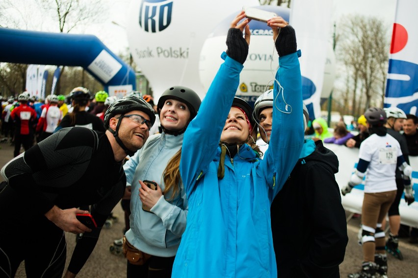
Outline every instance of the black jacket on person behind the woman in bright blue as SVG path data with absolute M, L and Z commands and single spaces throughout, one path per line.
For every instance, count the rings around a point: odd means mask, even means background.
M 338 158 L 322 141 L 299 159 L 271 206 L 280 278 L 340 277 L 348 242 L 345 212 L 334 174 Z

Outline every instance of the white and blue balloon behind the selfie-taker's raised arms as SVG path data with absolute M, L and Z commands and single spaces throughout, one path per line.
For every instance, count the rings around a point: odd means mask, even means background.
M 279 6 L 258 6 L 258 8 L 272 11 L 289 20 L 290 9 Z M 205 90 L 208 90 L 213 76 L 219 69 L 223 60 L 220 54 L 225 50 L 225 41 L 229 23 L 234 19 L 235 14 L 230 14 L 209 34 L 208 39 L 202 47 L 199 72 L 200 79 Z M 251 21 L 251 41 L 247 60 L 244 69 L 240 74 L 240 85 L 236 96 L 245 99 L 250 104 L 254 104 L 261 93 L 273 88 L 274 77 L 278 63 L 278 54 L 273 42 L 273 31 L 266 23 Z M 303 55 L 303 49 L 302 49 Z M 324 72 L 324 86 L 321 92 L 322 97 L 328 97 L 333 88 L 335 78 L 335 56 L 334 52 L 328 51 L 327 63 Z M 308 78 L 302 77 L 304 85 L 304 98 L 311 96 L 310 90 L 315 90 L 313 82 Z M 310 90 L 306 90 L 310 88 Z

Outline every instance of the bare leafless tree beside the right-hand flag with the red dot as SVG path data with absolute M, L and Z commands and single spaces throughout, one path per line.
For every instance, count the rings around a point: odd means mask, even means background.
M 342 57 L 353 82 L 351 112 L 358 116 L 370 106 L 373 97 L 381 95 L 377 92 L 384 93 L 389 59 L 388 28 L 377 18 L 351 16 L 342 21 L 339 31 L 338 57 Z

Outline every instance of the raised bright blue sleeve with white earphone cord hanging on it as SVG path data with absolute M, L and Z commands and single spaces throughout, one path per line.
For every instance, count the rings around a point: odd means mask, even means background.
M 268 149 L 260 162 L 265 179 L 275 179 L 273 197 L 286 182 L 304 142 L 299 57 L 300 50 L 280 57 L 280 67 L 276 72 L 273 127 Z

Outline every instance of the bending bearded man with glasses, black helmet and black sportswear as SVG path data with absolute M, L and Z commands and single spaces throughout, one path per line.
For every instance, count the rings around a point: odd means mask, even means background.
M 28 277 L 61 278 L 64 232 L 84 233 L 64 277 L 78 274 L 124 195 L 123 161 L 143 146 L 154 121 L 145 100 L 125 97 L 106 111 L 105 132 L 63 128 L 1 169 L 0 208 L 8 213 L 0 216 L 0 269 L 7 277 L 25 261 Z M 89 205 L 90 212 L 77 209 Z M 79 222 L 78 213 L 90 213 L 97 228 Z

